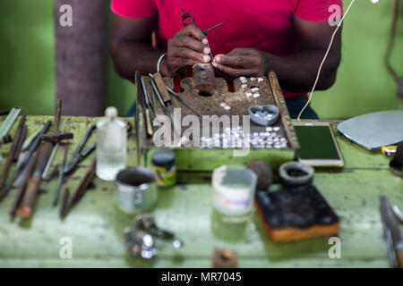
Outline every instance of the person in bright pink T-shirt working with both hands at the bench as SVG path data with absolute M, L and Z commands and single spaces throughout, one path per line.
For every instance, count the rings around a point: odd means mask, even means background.
M 209 63 L 227 77 L 257 77 L 275 71 L 296 118 L 306 103 L 330 38 L 342 16 L 342 0 L 112 0 L 110 52 L 116 72 L 135 71 L 181 79 L 186 67 Z M 335 8 L 339 7 L 339 9 Z M 182 12 L 197 25 L 183 25 Z M 337 14 L 339 12 L 339 14 Z M 201 29 L 225 22 L 205 36 Z M 330 24 L 333 23 L 333 24 Z M 335 38 L 317 89 L 330 88 L 341 58 Z M 176 80 L 176 84 L 178 80 Z M 311 107 L 302 118 L 318 118 Z

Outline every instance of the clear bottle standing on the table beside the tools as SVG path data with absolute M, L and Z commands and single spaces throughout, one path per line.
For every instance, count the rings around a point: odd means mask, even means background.
M 116 107 L 107 107 L 105 115 L 97 122 L 96 173 L 99 179 L 114 181 L 126 163 L 126 123 L 117 117 Z

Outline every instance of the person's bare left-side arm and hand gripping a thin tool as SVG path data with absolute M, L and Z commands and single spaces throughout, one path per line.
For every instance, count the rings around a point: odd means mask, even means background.
M 194 63 L 210 62 L 210 47 L 201 29 L 189 25 L 180 29 L 167 43 L 167 50 L 152 47 L 152 31 L 157 26 L 157 17 L 125 18 L 114 14 L 109 50 L 115 70 L 120 77 L 134 80 L 135 71 L 148 74 L 157 71 L 164 76 L 180 76 L 180 71 Z

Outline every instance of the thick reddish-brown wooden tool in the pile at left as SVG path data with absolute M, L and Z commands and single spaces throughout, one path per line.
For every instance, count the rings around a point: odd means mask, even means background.
M 17 209 L 17 215 L 21 218 L 29 218 L 35 207 L 35 202 L 39 193 L 39 185 L 42 181 L 42 172 L 47 165 L 47 160 L 52 152 L 52 144 L 45 144 L 40 149 L 38 162 L 32 176 L 27 181 L 21 205 Z

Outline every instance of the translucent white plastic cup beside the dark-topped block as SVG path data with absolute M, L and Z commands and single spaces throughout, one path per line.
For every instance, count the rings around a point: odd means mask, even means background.
M 252 213 L 256 181 L 256 174 L 243 166 L 220 166 L 211 178 L 214 208 L 235 217 Z

